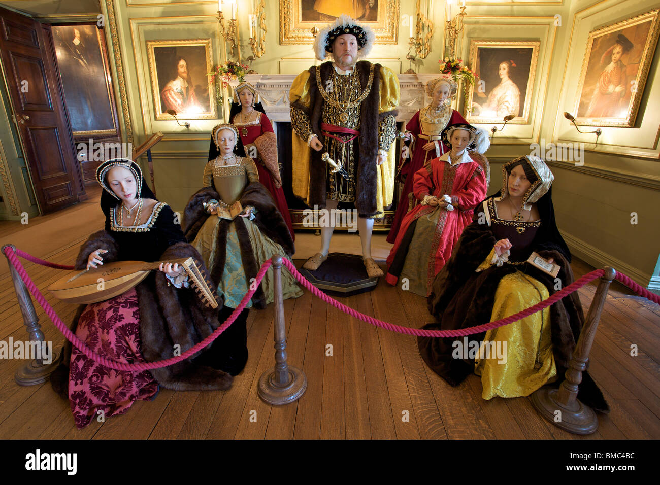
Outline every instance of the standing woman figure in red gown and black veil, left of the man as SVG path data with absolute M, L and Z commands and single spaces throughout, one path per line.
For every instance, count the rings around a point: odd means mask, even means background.
M 261 106 L 259 92 L 249 82 L 241 82 L 234 88 L 234 102 L 229 112 L 229 119 L 240 136 L 240 143 L 236 144 L 236 154 L 254 160 L 259 181 L 275 199 L 275 205 L 289 228 L 291 238 L 295 240 L 291 215 L 282 189 L 282 177 L 277 162 L 277 139 L 273 125 Z M 212 136 L 209 161 L 215 160 L 219 154 Z

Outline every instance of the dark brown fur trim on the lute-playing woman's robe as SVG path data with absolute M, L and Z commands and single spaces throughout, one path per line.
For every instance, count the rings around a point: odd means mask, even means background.
M 106 249 L 103 261 L 117 261 L 117 243 L 106 231 L 99 231 L 82 245 L 75 263 L 75 269 L 82 270 L 92 251 Z M 185 242 L 174 243 L 160 256 L 161 261 L 193 257 L 198 267 L 206 267 L 197 250 Z M 208 273 L 207 273 L 208 274 Z M 174 344 L 180 344 L 181 352 L 205 339 L 220 326 L 218 309 L 205 306 L 193 288 L 168 286 L 168 279 L 162 271 L 156 271 L 140 282 L 135 289 L 140 309 L 141 351 L 147 362 L 155 362 L 174 356 Z M 213 288 L 211 288 L 213 290 Z M 81 306 L 73 320 L 71 331 L 75 333 L 79 317 L 86 306 Z M 221 308 L 222 306 L 220 306 Z M 65 343 L 64 360 L 51 375 L 53 389 L 67 398 L 69 386 L 69 362 L 71 342 Z M 193 362 L 197 354 L 174 364 L 149 372 L 163 387 L 175 391 L 210 391 L 229 389 L 233 377 L 226 372 Z

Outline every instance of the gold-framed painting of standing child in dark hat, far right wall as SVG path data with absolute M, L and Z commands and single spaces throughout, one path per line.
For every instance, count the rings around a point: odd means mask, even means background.
M 658 42 L 659 12 L 589 32 L 573 110 L 580 125 L 634 127 Z

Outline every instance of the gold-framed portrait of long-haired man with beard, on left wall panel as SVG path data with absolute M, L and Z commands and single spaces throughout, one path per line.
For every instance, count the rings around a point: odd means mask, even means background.
M 148 40 L 154 119 L 217 119 L 211 39 Z M 183 77 L 187 79 L 183 79 Z

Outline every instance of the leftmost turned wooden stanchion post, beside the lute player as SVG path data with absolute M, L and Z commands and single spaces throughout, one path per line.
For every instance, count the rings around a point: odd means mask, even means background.
M 5 244 L 2 247 L 2 252 L 5 254 L 5 248 L 11 247 L 12 251 L 16 253 L 16 247 L 12 244 Z M 39 319 L 37 318 L 36 311 L 34 311 L 34 305 L 32 305 L 32 298 L 30 298 L 30 292 L 25 286 L 25 283 L 18 275 L 14 265 L 11 264 L 9 258 L 7 257 L 7 265 L 9 265 L 9 274 L 11 279 L 14 282 L 14 290 L 16 291 L 16 298 L 18 298 L 18 306 L 20 307 L 20 313 L 23 315 L 23 323 L 25 324 L 28 335 L 30 336 L 29 345 L 25 345 L 25 352 L 27 354 L 28 349 L 34 349 L 36 354 L 35 358 L 32 359 L 28 364 L 25 364 L 19 368 L 15 375 L 14 379 L 16 383 L 20 385 L 35 385 L 46 382 L 48 376 L 57 368 L 59 361 L 62 356 L 59 351 L 55 351 L 52 348 L 48 347 L 48 343 L 45 340 L 44 333 L 41 330 L 41 325 L 39 325 Z M 34 343 L 32 343 L 34 342 Z M 12 349 L 9 349 L 11 352 Z M 51 355 L 48 355 L 44 352 L 51 352 Z M 49 364 L 44 364 L 44 358 L 49 358 Z

